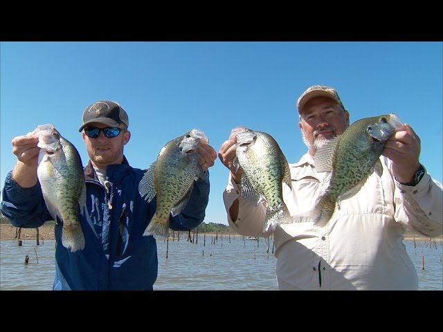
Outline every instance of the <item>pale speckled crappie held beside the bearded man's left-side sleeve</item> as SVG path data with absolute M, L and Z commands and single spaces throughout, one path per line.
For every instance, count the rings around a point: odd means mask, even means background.
M 236 140 L 236 169 L 242 167 L 242 197 L 251 205 L 266 201 L 264 231 L 275 230 L 291 219 L 283 201 L 283 183 L 291 188 L 291 173 L 286 157 L 275 139 L 263 131 L 236 127 L 230 140 Z

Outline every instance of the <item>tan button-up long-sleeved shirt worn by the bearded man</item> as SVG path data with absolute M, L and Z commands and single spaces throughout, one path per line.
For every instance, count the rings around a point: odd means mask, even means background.
M 341 199 L 329 222 L 320 227 L 309 213 L 323 192 L 325 173 L 317 173 L 307 153 L 291 169 L 292 190 L 284 185 L 284 202 L 293 223 L 275 230 L 280 290 L 415 290 L 417 272 L 404 246 L 406 228 L 437 237 L 443 233 L 443 187 L 425 174 L 415 187 L 401 185 L 380 157 L 381 175 L 373 172 L 361 190 Z M 235 223 L 239 234 L 269 237 L 263 232 L 265 207 L 249 205 L 232 178 L 223 194 L 226 211 L 239 199 Z

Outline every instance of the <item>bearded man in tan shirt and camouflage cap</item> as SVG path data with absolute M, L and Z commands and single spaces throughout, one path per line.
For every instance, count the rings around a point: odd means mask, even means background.
M 404 231 L 426 237 L 443 233 L 443 187 L 419 163 L 419 138 L 403 124 L 380 156 L 383 172 L 373 172 L 361 190 L 336 205 L 325 225 L 318 225 L 296 216 L 309 214 L 318 203 L 325 173 L 316 172 L 313 157 L 349 127 L 350 113 L 329 86 L 311 86 L 300 95 L 297 108 L 308 151 L 289 164 L 292 190 L 284 186 L 293 222 L 278 225 L 273 234 L 279 289 L 416 290 L 417 272 L 402 243 Z M 242 199 L 235 149 L 233 140 L 219 149 L 221 162 L 230 169 L 223 194 L 228 223 L 239 234 L 269 237 L 264 203 L 253 206 Z

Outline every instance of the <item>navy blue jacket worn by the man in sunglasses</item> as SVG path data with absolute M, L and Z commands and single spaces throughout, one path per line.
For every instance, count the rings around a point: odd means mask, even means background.
M 145 170 L 120 165 L 107 167 L 109 194 L 98 181 L 91 161 L 84 168 L 87 213 L 79 214 L 85 239 L 83 250 L 71 252 L 62 245 L 62 223 L 55 225 L 55 290 L 150 290 L 157 277 L 157 247 L 143 232 L 156 209 L 156 198 L 147 203 L 138 193 Z M 190 201 L 181 214 L 170 216 L 172 230 L 190 230 L 205 217 L 209 200 L 209 174 L 194 183 Z M 111 204 L 111 209 L 107 201 Z M 52 220 L 37 183 L 21 188 L 11 172 L 3 187 L 1 211 L 12 225 L 37 228 Z M 119 223 L 124 223 L 123 235 Z

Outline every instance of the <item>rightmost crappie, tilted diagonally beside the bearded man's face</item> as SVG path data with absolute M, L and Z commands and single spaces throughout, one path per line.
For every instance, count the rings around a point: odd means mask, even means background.
M 314 222 L 324 225 L 336 203 L 356 194 L 372 172 L 381 175 L 381 151 L 386 140 L 401 127 L 395 113 L 357 120 L 316 151 L 317 172 L 329 172 L 326 188 L 314 211 Z

